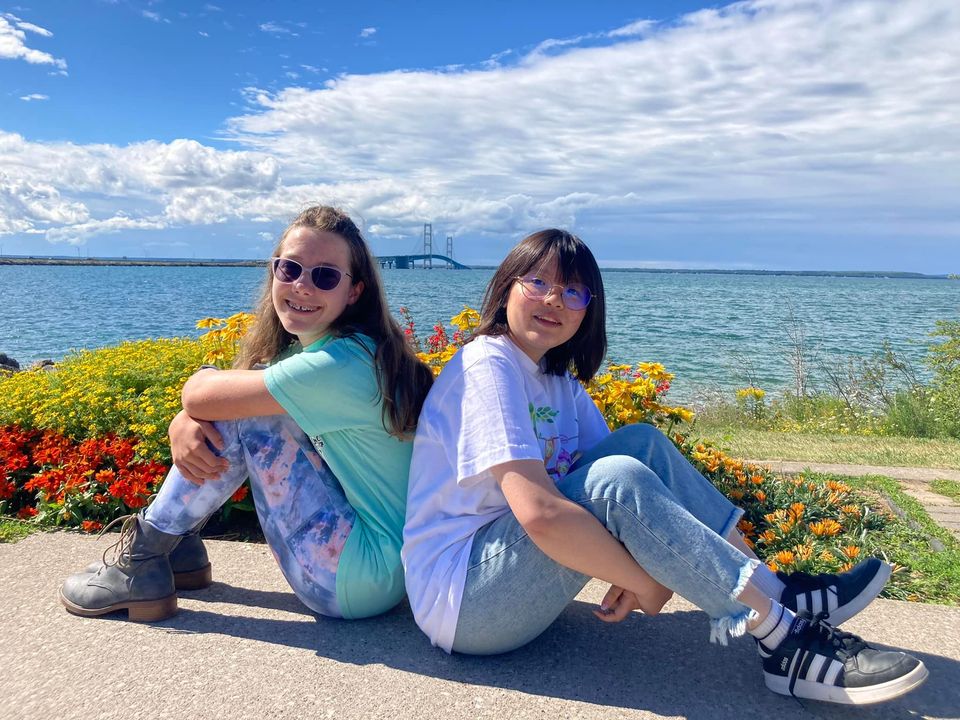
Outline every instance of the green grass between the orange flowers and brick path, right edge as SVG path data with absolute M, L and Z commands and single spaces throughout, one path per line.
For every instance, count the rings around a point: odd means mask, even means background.
M 917 500 L 904 493 L 900 483 L 876 475 L 809 477 L 842 479 L 868 496 L 889 499 L 902 512 L 883 530 L 864 539 L 870 554 L 895 565 L 883 597 L 960 605 L 960 542 L 934 522 Z

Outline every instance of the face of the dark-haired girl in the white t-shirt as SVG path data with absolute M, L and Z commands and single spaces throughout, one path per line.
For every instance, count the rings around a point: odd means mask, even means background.
M 507 296 L 507 325 L 510 339 L 534 362 L 548 350 L 559 347 L 577 334 L 586 310 L 569 310 L 563 304 L 556 262 L 534 272 L 554 287 L 541 300 L 528 298 L 519 281 L 514 281 Z

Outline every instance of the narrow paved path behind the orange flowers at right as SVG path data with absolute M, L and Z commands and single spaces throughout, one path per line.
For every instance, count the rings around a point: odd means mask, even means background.
M 879 465 L 849 465 L 840 463 L 808 463 L 790 460 L 750 460 L 755 465 L 767 467 L 785 475 L 802 472 L 829 473 L 833 475 L 883 475 L 900 481 L 903 491 L 923 505 L 930 518 L 946 528 L 960 540 L 960 503 L 935 493 L 930 489 L 934 480 L 960 482 L 960 470 L 947 468 L 882 467 Z M 960 717 L 960 711 L 957 716 Z

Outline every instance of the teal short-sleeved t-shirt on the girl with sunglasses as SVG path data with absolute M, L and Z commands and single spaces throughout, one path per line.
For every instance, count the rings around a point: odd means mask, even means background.
M 310 437 L 357 512 L 337 568 L 347 618 L 386 612 L 403 598 L 403 536 L 412 442 L 383 427 L 366 335 L 320 338 L 265 371 L 267 390 Z

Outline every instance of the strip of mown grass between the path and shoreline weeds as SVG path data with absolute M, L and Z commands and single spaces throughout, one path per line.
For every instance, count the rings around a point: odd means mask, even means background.
M 697 421 L 691 435 L 735 457 L 960 470 L 960 441 L 867 435 L 813 435 Z

